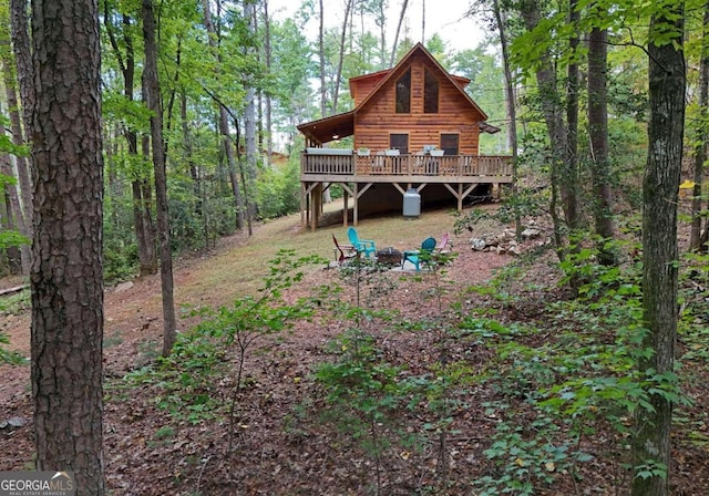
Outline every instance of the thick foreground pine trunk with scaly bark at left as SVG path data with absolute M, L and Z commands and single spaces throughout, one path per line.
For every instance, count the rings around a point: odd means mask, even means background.
M 32 397 L 40 471 L 103 495 L 101 46 L 93 0 L 32 2 Z

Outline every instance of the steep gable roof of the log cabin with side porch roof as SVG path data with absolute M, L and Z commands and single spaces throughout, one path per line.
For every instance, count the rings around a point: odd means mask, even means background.
M 402 72 L 403 69 L 409 65 L 411 59 L 413 59 L 413 56 L 419 53 L 427 58 L 438 69 L 438 71 L 443 74 L 443 76 L 448 81 L 450 81 L 450 83 L 460 92 L 465 102 L 472 108 L 480 113 L 480 115 L 483 117 L 483 120 L 480 122 L 480 131 L 491 134 L 500 131 L 499 127 L 484 122 L 487 118 L 487 114 L 485 114 L 485 112 L 483 112 L 483 110 L 477 106 L 473 99 L 467 93 L 465 93 L 465 91 L 463 91 L 467 83 L 470 83 L 470 80 L 463 76 L 451 75 L 445 69 L 443 69 L 439 61 L 435 60 L 431 52 L 429 52 L 423 46 L 423 44 L 421 44 L 421 42 L 413 45 L 413 48 L 409 50 L 409 52 L 392 69 L 350 79 L 350 91 L 352 87 L 352 81 L 367 78 L 380 79 L 374 87 L 369 92 L 369 94 L 353 110 L 343 114 L 336 114 L 329 117 L 320 118 L 318 121 L 299 124 L 297 126 L 298 131 L 300 131 L 300 133 L 302 133 L 308 140 L 320 144 L 337 140 L 338 137 L 351 136 L 352 134 L 354 134 L 354 114 L 357 114 L 360 108 L 367 105 L 367 103 L 372 99 L 373 95 L 379 92 L 382 86 L 384 86 L 390 80 Z

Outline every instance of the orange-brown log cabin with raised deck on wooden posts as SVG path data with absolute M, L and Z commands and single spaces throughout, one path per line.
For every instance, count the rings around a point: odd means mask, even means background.
M 302 229 L 317 228 L 331 184 L 342 186 L 346 226 L 350 198 L 357 225 L 360 215 L 401 208 L 411 194 L 430 204 L 455 198 L 459 211 L 471 195 L 499 194 L 512 182 L 512 157 L 479 154 L 480 133 L 500 130 L 465 93 L 469 83 L 421 43 L 393 69 L 350 79 L 353 110 L 297 126 L 306 140 Z M 347 136 L 352 149 L 322 146 Z

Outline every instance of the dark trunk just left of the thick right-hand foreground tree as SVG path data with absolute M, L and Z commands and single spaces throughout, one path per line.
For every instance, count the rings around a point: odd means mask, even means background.
M 600 236 L 598 261 L 616 264 L 605 241 L 615 236 L 613 225 L 613 194 L 608 159 L 608 31 L 594 28 L 588 37 L 588 138 L 590 141 L 590 177 L 594 185 L 593 214 L 596 234 Z

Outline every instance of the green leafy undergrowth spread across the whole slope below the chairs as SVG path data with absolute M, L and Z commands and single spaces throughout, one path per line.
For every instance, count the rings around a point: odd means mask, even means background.
M 358 466 L 371 494 L 400 490 L 391 474 L 415 480 L 407 486 L 415 494 L 487 496 L 613 490 L 631 477 L 665 476 L 667 467 L 653 459 L 630 465 L 633 422 L 651 409 L 650 395 L 661 395 L 675 405 L 687 443 L 709 444 L 706 414 L 692 409 L 688 392 L 706 378 L 706 260 L 682 260 L 681 352 L 677 370 L 664 374 L 638 372 L 651 353 L 643 344 L 640 268 L 595 260 L 594 250 L 579 250 L 555 268 L 582 282 L 574 298 L 526 280 L 532 261 L 523 259 L 460 294 L 452 294 L 445 265 L 429 278 L 397 279 L 362 264 L 339 272 L 342 286 L 314 287 L 288 303 L 284 290 L 316 261 L 284 254 L 259 296 L 193 309 L 202 322 L 173 354 L 132 372 L 111 394 L 151 388 L 156 407 L 176 421 L 218 418 L 232 426 L 230 440 L 247 418 L 243 393 L 255 386 L 248 356 L 273 351 L 269 343 L 317 313 L 341 331 L 318 350 L 282 432 L 292 442 L 325 436 L 335 452 L 364 459 Z M 352 301 L 343 286 L 354 289 Z M 420 294 L 425 318 L 390 308 L 402 287 Z M 442 296 L 453 303 L 444 307 Z M 477 451 L 462 453 L 470 447 L 461 438 L 472 433 L 482 440 Z M 475 463 L 463 469 L 467 458 Z

